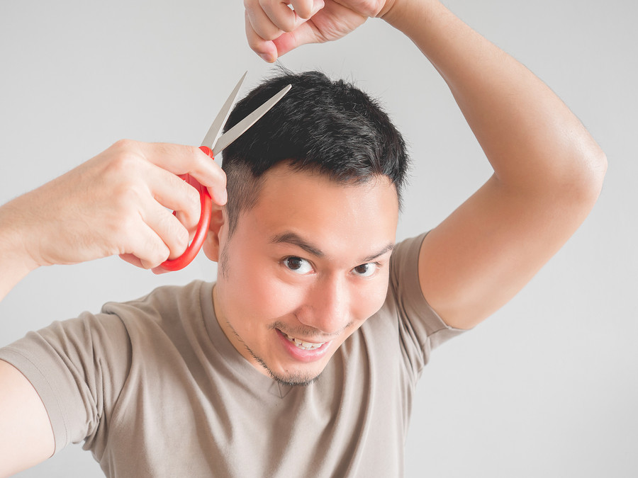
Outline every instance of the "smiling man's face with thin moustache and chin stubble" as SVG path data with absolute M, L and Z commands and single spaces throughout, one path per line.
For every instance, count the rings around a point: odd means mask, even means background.
M 318 377 L 384 303 L 397 221 L 385 176 L 344 186 L 286 164 L 269 170 L 230 240 L 220 230 L 213 298 L 233 346 L 281 382 Z

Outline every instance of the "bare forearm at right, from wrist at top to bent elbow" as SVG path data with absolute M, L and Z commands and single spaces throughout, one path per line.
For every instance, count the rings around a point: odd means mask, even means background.
M 583 186 L 598 194 L 604 154 L 537 76 L 439 1 L 397 0 L 384 19 L 440 72 L 498 181 L 517 190 Z

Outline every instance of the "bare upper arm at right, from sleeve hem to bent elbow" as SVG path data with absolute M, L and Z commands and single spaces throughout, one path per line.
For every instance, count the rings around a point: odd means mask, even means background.
M 475 326 L 556 254 L 599 190 L 516 190 L 492 176 L 423 240 L 419 280 L 427 302 L 449 326 Z

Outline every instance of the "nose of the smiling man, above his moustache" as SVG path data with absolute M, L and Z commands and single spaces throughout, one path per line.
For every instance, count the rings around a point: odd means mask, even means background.
M 347 280 L 338 275 L 318 279 L 309 288 L 297 319 L 326 335 L 339 334 L 351 321 Z

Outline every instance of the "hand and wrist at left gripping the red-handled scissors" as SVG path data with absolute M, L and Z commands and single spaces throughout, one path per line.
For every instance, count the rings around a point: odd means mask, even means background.
M 155 268 L 186 250 L 199 220 L 197 190 L 176 176 L 184 173 L 225 203 L 225 175 L 200 149 L 122 140 L 0 215 L 32 267 L 118 254 Z

